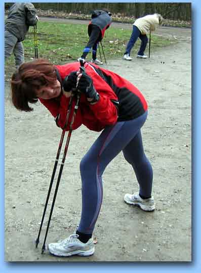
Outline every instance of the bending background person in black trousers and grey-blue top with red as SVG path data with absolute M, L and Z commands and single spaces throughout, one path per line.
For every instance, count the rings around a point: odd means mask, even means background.
M 92 20 L 88 25 L 89 42 L 83 50 L 83 55 L 78 58 L 85 61 L 87 54 L 92 48 L 92 62 L 95 64 L 103 64 L 96 58 L 98 43 L 103 39 L 105 30 L 111 24 L 111 13 L 107 10 L 95 10 L 92 12 Z

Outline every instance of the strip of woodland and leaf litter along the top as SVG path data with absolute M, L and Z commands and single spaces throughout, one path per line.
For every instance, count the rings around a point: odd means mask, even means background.
M 5 10 L 13 3 L 5 3 Z M 164 26 L 191 27 L 191 3 L 33 3 L 39 16 L 90 19 L 94 9 L 107 9 L 112 21 L 132 23 L 136 18 L 159 13 Z

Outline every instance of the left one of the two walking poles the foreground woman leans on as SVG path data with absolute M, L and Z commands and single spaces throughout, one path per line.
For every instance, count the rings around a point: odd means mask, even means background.
M 62 134 L 61 134 L 60 142 L 59 142 L 57 156 L 56 156 L 56 160 L 55 160 L 55 164 L 54 164 L 54 168 L 53 168 L 53 173 L 52 173 L 52 177 L 51 177 L 51 181 L 50 181 L 50 186 L 49 186 L 49 190 L 48 190 L 48 195 L 47 195 L 47 199 L 46 199 L 46 203 L 45 203 L 45 208 L 44 208 L 44 212 L 43 212 L 43 216 L 42 216 L 42 220 L 41 220 L 41 226 L 39 228 L 38 236 L 37 236 L 37 239 L 35 241 L 35 247 L 36 248 L 37 248 L 37 246 L 39 244 L 39 237 L 41 235 L 41 230 L 42 230 L 42 226 L 43 226 L 43 222 L 44 222 L 44 218 L 45 218 L 45 214 L 46 214 L 46 210 L 47 210 L 47 206 L 48 206 L 48 201 L 49 201 L 49 198 L 50 198 L 50 193 L 51 193 L 51 190 L 52 190 L 52 185 L 53 185 L 53 181 L 54 181 L 54 177 L 55 177 L 55 173 L 56 173 L 56 169 L 57 169 L 57 164 L 58 164 L 59 156 L 60 156 L 60 153 L 61 153 L 61 148 L 62 148 L 63 139 L 64 139 L 64 135 L 65 135 L 65 128 L 67 126 L 68 119 L 69 119 L 70 112 L 71 112 L 71 108 L 72 108 L 72 98 L 73 97 L 71 96 L 70 101 L 69 101 L 69 105 L 68 105 L 68 110 L 67 110 L 66 122 L 65 122 Z

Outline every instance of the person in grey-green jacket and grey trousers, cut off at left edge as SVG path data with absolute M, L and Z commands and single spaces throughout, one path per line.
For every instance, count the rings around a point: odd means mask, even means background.
M 15 55 L 16 69 L 24 62 L 22 41 L 29 26 L 36 25 L 38 16 L 32 3 L 14 3 L 5 21 L 5 60 Z

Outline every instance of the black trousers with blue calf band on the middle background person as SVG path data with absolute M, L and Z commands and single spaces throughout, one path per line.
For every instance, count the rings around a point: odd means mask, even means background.
M 92 48 L 92 58 L 96 59 L 96 53 L 98 48 L 98 42 L 101 39 L 101 30 L 97 25 L 91 25 L 91 33 L 89 37 L 89 42 L 87 43 L 85 49 L 83 50 L 82 58 L 86 58 L 87 54 Z

